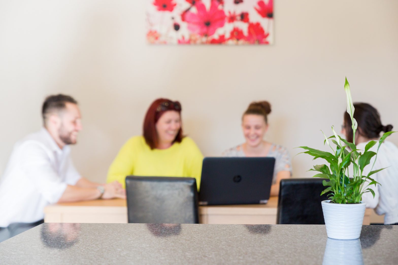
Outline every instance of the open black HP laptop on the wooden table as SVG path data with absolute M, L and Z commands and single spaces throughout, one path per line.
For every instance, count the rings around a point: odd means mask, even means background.
M 271 157 L 203 159 L 199 205 L 267 203 L 274 166 Z

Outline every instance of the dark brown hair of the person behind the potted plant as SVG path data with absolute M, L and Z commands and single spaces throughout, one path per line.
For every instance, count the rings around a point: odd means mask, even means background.
M 354 119 L 358 123 L 357 133 L 368 138 L 378 138 L 381 132 L 392 131 L 392 125 L 382 125 L 380 120 L 380 114 L 377 109 L 368 103 L 354 103 Z M 353 131 L 352 131 L 351 118 L 347 112 L 344 113 L 344 127 L 347 132 L 347 140 L 352 142 Z

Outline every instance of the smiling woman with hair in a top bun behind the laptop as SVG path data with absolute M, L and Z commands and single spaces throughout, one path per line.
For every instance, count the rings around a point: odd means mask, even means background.
M 285 147 L 263 139 L 268 130 L 269 113 L 271 113 L 271 104 L 268 101 L 250 103 L 242 116 L 242 131 L 246 142 L 224 151 L 222 156 L 274 157 L 271 196 L 277 196 L 281 179 L 291 177 L 292 164 Z

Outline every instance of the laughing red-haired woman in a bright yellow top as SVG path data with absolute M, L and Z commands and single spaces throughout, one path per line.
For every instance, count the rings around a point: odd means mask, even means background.
M 143 136 L 131 137 L 113 160 L 107 182 L 125 187 L 128 175 L 194 177 L 199 188 L 202 161 L 195 142 L 182 134 L 180 103 L 160 98 L 146 112 Z

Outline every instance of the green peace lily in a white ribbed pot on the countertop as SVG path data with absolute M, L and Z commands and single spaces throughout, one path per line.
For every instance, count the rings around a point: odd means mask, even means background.
M 309 154 L 314 159 L 323 158 L 328 162 L 328 164 L 316 165 L 313 169 L 310 169 L 319 172 L 314 177 L 325 179 L 323 185 L 327 188 L 322 191 L 321 195 L 328 193 L 329 198 L 329 200 L 322 201 L 328 237 L 334 239 L 357 239 L 361 235 L 366 207 L 366 203 L 361 201 L 362 194 L 371 192 L 373 197 L 375 196 L 374 191 L 369 186 L 379 183 L 371 175 L 383 170 L 383 168 L 373 170 L 375 165 L 375 162 L 373 162 L 369 174 L 362 174 L 364 168 L 370 164 L 371 158 L 375 156 L 375 161 L 377 159 L 377 152 L 369 149 L 375 144 L 378 144 L 378 148 L 380 148 L 386 137 L 393 132 L 384 133 L 378 142 L 375 140 L 370 141 L 364 150 L 357 149 L 355 131 L 358 125 L 353 117 L 355 109 L 347 78 L 345 78 L 344 90 L 347 97 L 347 112 L 352 122 L 353 142 L 347 142 L 347 140 L 341 138 L 332 126 L 333 135 L 329 138 L 322 132 L 325 136 L 324 144 L 327 144 L 332 152 L 325 152 L 307 146 L 300 146 L 300 148 L 306 150 L 302 153 Z M 333 146 L 329 142 L 330 139 Z

